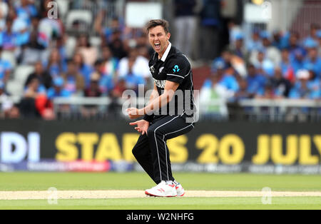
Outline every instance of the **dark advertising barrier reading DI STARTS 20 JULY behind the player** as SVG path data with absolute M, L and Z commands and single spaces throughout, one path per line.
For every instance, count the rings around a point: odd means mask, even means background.
M 126 121 L 0 121 L 0 162 L 134 161 L 138 133 Z M 197 123 L 168 141 L 173 163 L 320 165 L 317 123 Z

